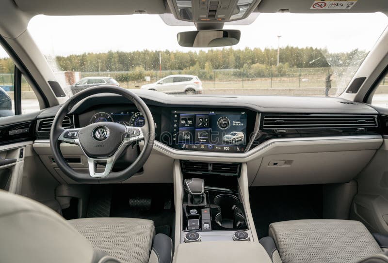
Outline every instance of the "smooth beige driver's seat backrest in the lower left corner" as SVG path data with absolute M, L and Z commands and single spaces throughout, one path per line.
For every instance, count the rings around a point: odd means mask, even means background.
M 0 262 L 91 263 L 90 242 L 49 207 L 0 190 Z

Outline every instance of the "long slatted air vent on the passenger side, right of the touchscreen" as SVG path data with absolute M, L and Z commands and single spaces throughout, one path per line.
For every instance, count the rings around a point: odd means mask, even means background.
M 376 116 L 339 114 L 289 114 L 264 116 L 263 129 L 325 129 L 377 127 Z

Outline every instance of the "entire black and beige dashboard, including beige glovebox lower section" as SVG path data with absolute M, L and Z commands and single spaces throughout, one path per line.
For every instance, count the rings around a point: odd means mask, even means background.
M 388 134 L 387 118 L 366 104 L 342 98 L 134 92 L 151 111 L 156 138 L 142 173 L 126 183 L 171 183 L 174 167 L 179 165 L 176 160 L 194 164 L 246 163 L 243 167 L 250 186 L 349 182 L 381 147 L 382 135 Z M 39 113 L 30 131 L 35 130 L 34 151 L 45 166 L 58 180 L 71 184 L 74 182 L 61 175 L 52 163 L 48 140 L 47 126 L 58 109 Z M 93 95 L 80 101 L 67 114 L 66 121 L 75 128 L 100 121 L 144 124 L 133 103 L 113 94 Z M 22 128 L 28 127 L 12 126 L 5 131 L 8 134 L 11 129 Z M 128 149 L 115 169 L 127 167 L 142 147 L 139 143 Z M 79 147 L 61 150 L 65 157 L 80 160 L 70 163 L 74 169 L 88 169 Z M 352 165 L 343 166 L 344 163 Z

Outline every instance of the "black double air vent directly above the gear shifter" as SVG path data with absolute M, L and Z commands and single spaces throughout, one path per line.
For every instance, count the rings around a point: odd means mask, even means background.
M 202 162 L 181 162 L 183 172 L 221 174 L 221 175 L 240 175 L 239 163 L 202 163 Z

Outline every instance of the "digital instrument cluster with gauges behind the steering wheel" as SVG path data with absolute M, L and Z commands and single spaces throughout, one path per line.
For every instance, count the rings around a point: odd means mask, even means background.
M 98 112 L 90 118 L 89 124 L 99 123 L 99 122 L 115 122 L 119 124 L 124 124 L 128 126 L 143 127 L 145 124 L 145 119 L 143 113 L 122 111 L 122 112 Z

